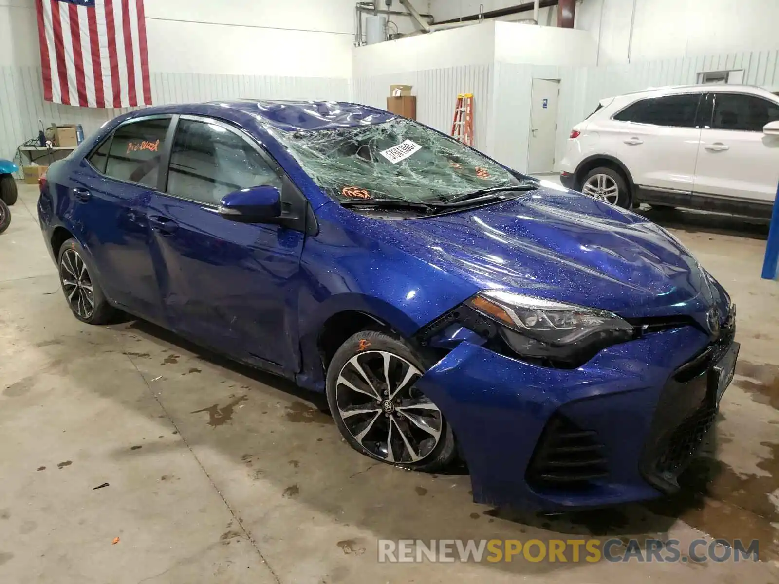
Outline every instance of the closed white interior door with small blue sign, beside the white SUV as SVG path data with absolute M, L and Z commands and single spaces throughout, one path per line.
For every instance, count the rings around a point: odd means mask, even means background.
M 555 135 L 557 134 L 557 79 L 533 79 L 530 104 L 530 145 L 527 154 L 529 173 L 552 172 L 555 169 Z

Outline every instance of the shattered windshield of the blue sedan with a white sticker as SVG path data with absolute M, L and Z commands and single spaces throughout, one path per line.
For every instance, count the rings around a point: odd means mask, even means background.
M 448 202 L 485 188 L 523 184 L 475 150 L 404 118 L 273 134 L 315 183 L 340 202 Z

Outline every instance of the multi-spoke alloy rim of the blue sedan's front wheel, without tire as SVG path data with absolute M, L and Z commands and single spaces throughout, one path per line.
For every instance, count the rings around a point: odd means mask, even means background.
M 363 351 L 341 368 L 336 404 L 344 425 L 365 450 L 386 463 L 418 463 L 438 445 L 441 410 L 414 387 L 422 372 L 404 357 Z

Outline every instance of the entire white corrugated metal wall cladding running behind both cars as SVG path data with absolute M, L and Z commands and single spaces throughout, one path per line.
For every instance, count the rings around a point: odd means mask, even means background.
M 474 93 L 476 147 L 525 171 L 533 79 L 560 79 L 555 137 L 555 164 L 559 164 L 570 128 L 590 114 L 603 97 L 650 86 L 696 83 L 697 73 L 722 69 L 744 69 L 744 83 L 779 89 L 779 51 L 746 51 L 601 67 L 496 63 L 352 80 L 155 73 L 152 91 L 156 104 L 264 97 L 351 100 L 383 109 L 390 85 L 407 83 L 418 96 L 418 120 L 446 133 L 451 129 L 457 93 Z M 39 68 L 0 68 L 0 157 L 13 157 L 16 146 L 37 135 L 39 119 L 44 125 L 81 124 L 89 134 L 122 111 L 44 102 Z

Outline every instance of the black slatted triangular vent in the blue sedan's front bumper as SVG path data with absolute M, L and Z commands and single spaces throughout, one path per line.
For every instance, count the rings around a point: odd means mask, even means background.
M 590 480 L 608 474 L 603 450 L 597 432 L 584 430 L 555 413 L 530 459 L 527 482 L 534 488 L 587 487 Z

